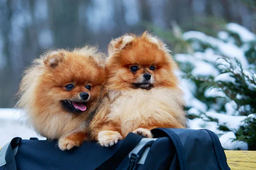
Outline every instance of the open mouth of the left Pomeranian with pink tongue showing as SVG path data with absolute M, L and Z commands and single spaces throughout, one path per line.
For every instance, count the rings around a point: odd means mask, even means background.
M 86 102 L 74 102 L 70 100 L 62 100 L 61 104 L 65 110 L 73 113 L 81 113 L 86 110 Z

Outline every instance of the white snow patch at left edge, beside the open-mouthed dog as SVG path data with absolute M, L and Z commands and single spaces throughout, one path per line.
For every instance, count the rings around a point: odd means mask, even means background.
M 29 139 L 30 137 L 37 137 L 41 140 L 46 139 L 22 123 L 22 113 L 21 110 L 13 108 L 0 108 L 0 147 L 3 147 L 4 144 L 10 142 L 15 137 L 21 137 L 22 139 Z

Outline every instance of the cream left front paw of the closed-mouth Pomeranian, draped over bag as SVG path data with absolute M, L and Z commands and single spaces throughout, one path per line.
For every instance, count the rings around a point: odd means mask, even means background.
M 121 140 L 122 136 L 119 132 L 112 130 L 104 130 L 99 132 L 98 141 L 99 144 L 105 147 L 112 146 L 117 143 L 118 140 Z

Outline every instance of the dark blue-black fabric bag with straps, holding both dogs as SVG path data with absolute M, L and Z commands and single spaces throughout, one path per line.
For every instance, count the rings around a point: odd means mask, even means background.
M 0 151 L 0 170 L 230 170 L 210 130 L 151 130 L 154 139 L 129 133 L 113 147 L 84 142 L 62 151 L 57 141 L 14 138 Z

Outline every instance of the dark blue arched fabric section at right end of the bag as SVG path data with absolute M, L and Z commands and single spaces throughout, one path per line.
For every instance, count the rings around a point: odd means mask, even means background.
M 230 170 L 221 143 L 210 130 L 156 128 L 152 133 L 156 137 L 169 136 L 172 142 L 178 138 L 170 170 L 180 169 L 184 162 L 186 170 Z M 185 150 L 182 161 L 177 152 L 180 147 Z

